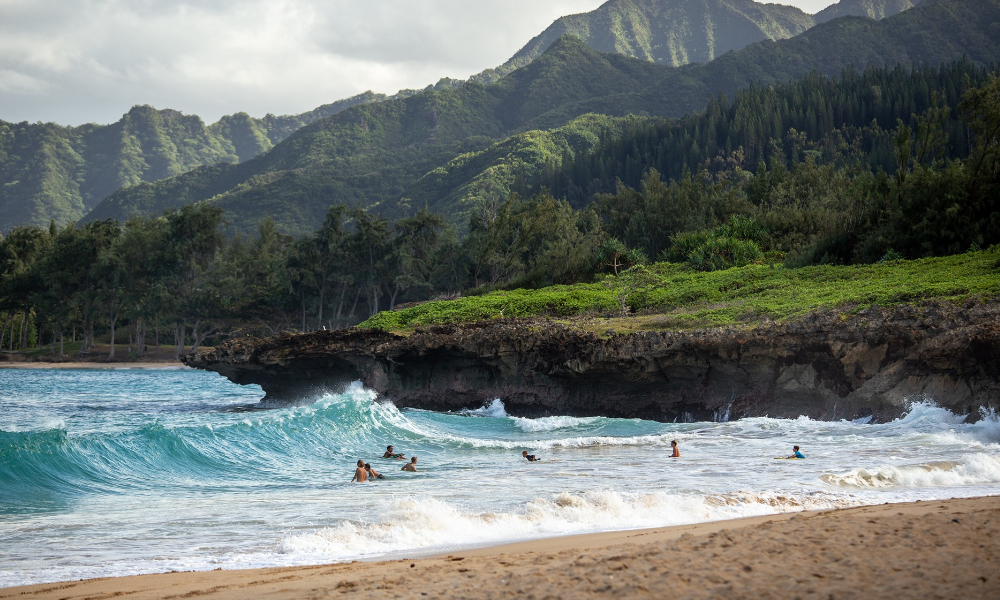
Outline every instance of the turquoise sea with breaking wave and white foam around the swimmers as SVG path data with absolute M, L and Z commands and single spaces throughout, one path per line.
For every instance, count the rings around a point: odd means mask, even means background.
M 1000 493 L 997 415 L 933 399 L 885 424 L 656 423 L 398 410 L 357 384 L 262 395 L 190 370 L 0 369 L 0 587 Z M 807 459 L 774 460 L 792 445 Z M 358 459 L 386 479 L 349 483 Z

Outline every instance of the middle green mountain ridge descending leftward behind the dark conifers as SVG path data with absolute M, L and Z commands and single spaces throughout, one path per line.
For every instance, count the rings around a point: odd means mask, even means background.
M 265 217 L 293 233 L 347 203 L 390 217 L 433 206 L 464 221 L 477 199 L 503 197 L 519 178 L 585 148 L 614 119 L 679 117 L 752 82 L 778 83 L 854 66 L 1000 59 L 1000 0 L 951 0 L 883 21 L 842 18 L 680 68 L 601 54 L 563 37 L 492 86 L 475 83 L 355 106 L 304 127 L 238 165 L 203 167 L 116 192 L 87 218 L 152 215 L 192 202 L 224 208 L 236 231 Z M 551 130 L 533 132 L 534 130 Z M 589 141 L 588 141 L 589 140 Z

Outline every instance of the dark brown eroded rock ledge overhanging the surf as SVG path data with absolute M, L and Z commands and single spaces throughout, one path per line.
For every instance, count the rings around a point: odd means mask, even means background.
M 261 385 L 265 402 L 351 381 L 400 407 L 659 421 L 770 415 L 877 420 L 933 399 L 956 413 L 1000 406 L 1000 303 L 826 312 L 752 330 L 601 338 L 545 320 L 429 327 L 408 337 L 321 331 L 245 338 L 186 364 Z

